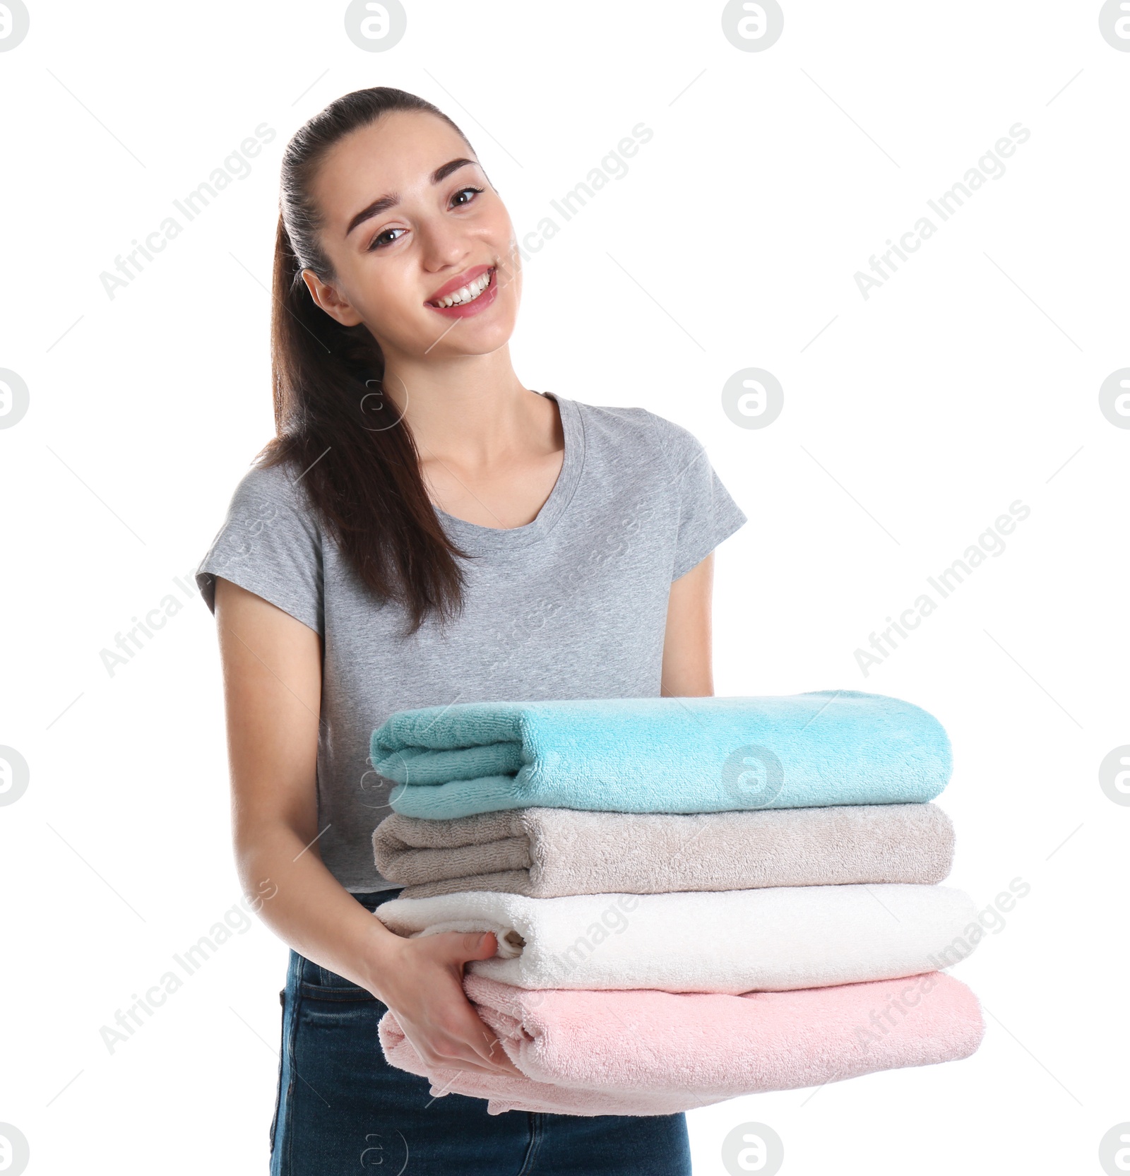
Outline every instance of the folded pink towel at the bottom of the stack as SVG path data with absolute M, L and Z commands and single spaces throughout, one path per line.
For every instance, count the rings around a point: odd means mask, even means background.
M 492 1115 L 669 1115 L 956 1061 L 984 1033 L 977 997 L 937 971 L 743 996 L 530 990 L 475 975 L 463 985 L 524 1077 L 428 1074 L 393 1013 L 381 1018 L 381 1047 L 392 1065 L 429 1078 L 433 1095 L 488 1098 Z

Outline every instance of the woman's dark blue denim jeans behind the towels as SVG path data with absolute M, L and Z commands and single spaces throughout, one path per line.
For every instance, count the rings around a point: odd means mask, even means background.
M 400 890 L 354 895 L 368 910 Z M 683 1115 L 488 1115 L 390 1067 L 386 1005 L 296 951 L 282 1000 L 272 1176 L 690 1176 Z

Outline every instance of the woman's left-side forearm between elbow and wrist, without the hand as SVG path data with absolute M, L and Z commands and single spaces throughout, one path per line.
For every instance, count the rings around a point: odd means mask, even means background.
M 403 940 L 329 873 L 317 847 L 278 822 L 236 829 L 240 882 L 265 923 L 307 960 L 380 997 Z

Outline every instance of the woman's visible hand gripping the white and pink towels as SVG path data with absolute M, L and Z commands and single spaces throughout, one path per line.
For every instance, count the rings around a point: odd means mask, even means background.
M 521 1076 L 463 993 L 463 964 L 497 949 L 493 931 L 444 931 L 400 938 L 382 960 L 373 995 L 396 1014 L 429 1070 Z

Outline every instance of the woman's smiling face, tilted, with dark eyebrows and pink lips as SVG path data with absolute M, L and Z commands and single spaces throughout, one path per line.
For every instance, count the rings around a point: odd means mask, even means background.
M 314 183 L 330 286 L 314 299 L 365 322 L 387 359 L 484 355 L 510 338 L 521 268 L 510 218 L 470 148 L 426 113 L 386 115 L 342 139 Z

